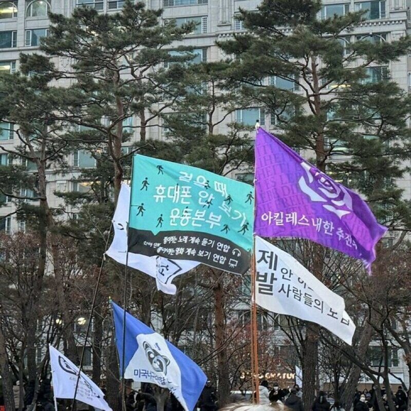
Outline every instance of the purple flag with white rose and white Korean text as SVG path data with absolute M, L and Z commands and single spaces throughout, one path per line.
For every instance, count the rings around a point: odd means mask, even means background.
M 388 229 L 361 197 L 262 128 L 255 142 L 254 233 L 308 238 L 361 258 L 369 269 Z

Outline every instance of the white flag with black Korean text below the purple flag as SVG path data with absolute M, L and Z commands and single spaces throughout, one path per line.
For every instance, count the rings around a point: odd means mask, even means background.
M 257 236 L 255 261 L 255 302 L 259 306 L 320 324 L 351 345 L 356 326 L 345 311 L 342 297 L 290 254 Z

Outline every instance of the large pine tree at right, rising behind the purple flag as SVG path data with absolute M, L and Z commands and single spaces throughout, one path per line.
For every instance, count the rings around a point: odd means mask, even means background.
M 312 0 L 264 0 L 256 12 L 241 10 L 247 32 L 219 44 L 234 55 L 227 86 L 263 107 L 288 145 L 308 149 L 320 170 L 366 195 L 382 223 L 406 229 L 410 209 L 395 179 L 404 174 L 399 161 L 409 158 L 410 106 L 387 66 L 409 52 L 411 40 L 350 42 L 363 12 L 321 19 L 320 11 Z M 312 272 L 323 279 L 325 250 L 313 251 Z M 305 387 L 316 383 L 318 334 L 307 326 Z M 313 399 L 304 390 L 306 409 Z

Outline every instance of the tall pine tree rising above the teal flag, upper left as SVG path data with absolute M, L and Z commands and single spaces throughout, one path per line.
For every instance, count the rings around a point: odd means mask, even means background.
M 122 144 L 136 128 L 140 140 L 146 140 L 147 127 L 179 96 L 183 66 L 170 63 L 194 57 L 182 52 L 182 47 L 170 52 L 172 43 L 193 25 L 160 25 L 161 14 L 161 10 L 146 9 L 144 3 L 130 0 L 113 14 L 88 7 L 74 9 L 70 17 L 50 14 L 50 35 L 41 45 L 46 55 L 60 58 L 56 76 L 71 83 L 69 109 L 61 113 L 77 126 L 70 137 L 91 153 L 101 148 L 108 154 L 114 167 L 116 199 L 126 155 Z M 44 59 L 33 55 L 29 64 L 36 70 Z M 170 103 L 164 104 L 164 95 Z M 132 122 L 134 115 L 137 124 Z

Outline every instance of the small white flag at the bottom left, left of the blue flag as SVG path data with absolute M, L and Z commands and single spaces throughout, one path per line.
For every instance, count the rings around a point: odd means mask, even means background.
M 73 399 L 79 368 L 51 345 L 49 345 L 49 351 L 54 397 Z M 112 411 L 104 400 L 103 391 L 84 372 L 80 373 L 76 400 L 95 408 Z

